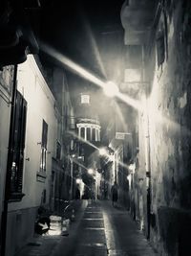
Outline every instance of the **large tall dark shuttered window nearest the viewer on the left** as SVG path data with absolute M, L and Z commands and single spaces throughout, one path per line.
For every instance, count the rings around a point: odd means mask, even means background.
M 13 127 L 9 162 L 11 164 L 11 200 L 21 200 L 23 183 L 23 163 L 25 149 L 27 102 L 16 91 L 15 108 L 13 113 Z

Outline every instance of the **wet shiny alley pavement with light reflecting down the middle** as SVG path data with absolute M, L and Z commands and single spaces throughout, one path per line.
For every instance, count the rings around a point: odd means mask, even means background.
M 156 256 L 138 225 L 110 201 L 84 201 L 69 236 L 44 236 L 19 256 Z M 32 245 L 32 244 L 31 244 Z M 16 255 L 16 256 L 17 256 Z

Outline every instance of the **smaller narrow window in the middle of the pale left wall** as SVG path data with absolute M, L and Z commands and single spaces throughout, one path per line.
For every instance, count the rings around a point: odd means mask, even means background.
M 46 172 L 46 160 L 47 160 L 47 135 L 48 125 L 43 120 L 42 122 L 42 140 L 41 140 L 41 157 L 40 157 L 40 172 Z

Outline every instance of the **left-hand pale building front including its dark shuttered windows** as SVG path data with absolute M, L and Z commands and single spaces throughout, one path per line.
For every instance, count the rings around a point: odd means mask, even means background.
M 39 207 L 57 212 L 67 198 L 63 113 L 71 116 L 72 105 L 66 81 L 57 81 L 58 101 L 32 56 L 5 67 L 1 82 L 1 243 L 11 256 L 32 238 Z

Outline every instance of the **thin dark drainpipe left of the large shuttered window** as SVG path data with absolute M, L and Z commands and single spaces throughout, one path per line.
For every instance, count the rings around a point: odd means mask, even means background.
M 5 180 L 5 194 L 3 203 L 3 212 L 1 219 L 1 247 L 0 255 L 6 255 L 6 235 L 7 235 L 7 222 L 8 222 L 8 204 L 11 194 L 11 164 L 12 164 L 12 145 L 13 145 L 13 132 L 14 132 L 14 112 L 15 112 L 15 100 L 17 89 L 17 65 L 14 65 L 13 83 L 12 83 L 12 95 L 11 95 L 11 119 L 10 119 L 10 137 L 8 148 L 8 160 L 7 160 L 7 172 Z

